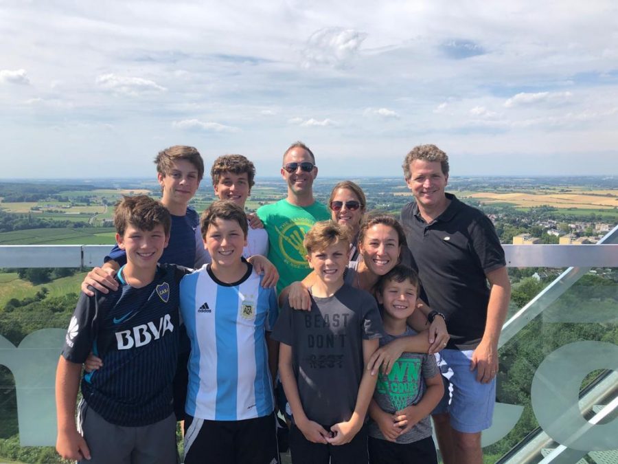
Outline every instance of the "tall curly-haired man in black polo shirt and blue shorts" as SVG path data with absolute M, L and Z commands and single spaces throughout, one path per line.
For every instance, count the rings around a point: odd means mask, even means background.
M 435 145 L 416 146 L 403 169 L 416 200 L 401 212 L 413 267 L 434 309 L 430 320 L 444 317 L 450 333 L 436 355 L 450 387 L 433 412 L 440 452 L 445 464 L 480 464 L 511 291 L 504 251 L 485 214 L 444 192 L 446 153 Z

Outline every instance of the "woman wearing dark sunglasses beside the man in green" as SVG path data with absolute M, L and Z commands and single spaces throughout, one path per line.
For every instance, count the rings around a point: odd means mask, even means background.
M 341 181 L 330 192 L 328 208 L 330 208 L 332 220 L 339 225 L 345 225 L 352 231 L 350 261 L 358 260 L 358 231 L 361 230 L 361 221 L 366 206 L 365 192 L 352 181 Z

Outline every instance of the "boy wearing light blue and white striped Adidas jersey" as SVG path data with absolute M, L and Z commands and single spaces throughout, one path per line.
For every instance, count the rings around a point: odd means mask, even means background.
M 181 315 L 191 342 L 185 406 L 185 464 L 278 462 L 272 378 L 277 348 L 274 289 L 242 257 L 247 216 L 215 201 L 201 230 L 212 263 L 181 283 Z M 269 369 L 270 368 L 270 369 Z

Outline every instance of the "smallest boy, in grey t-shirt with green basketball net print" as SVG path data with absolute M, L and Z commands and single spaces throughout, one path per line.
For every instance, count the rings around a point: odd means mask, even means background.
M 378 282 L 385 336 L 380 345 L 415 335 L 406 320 L 416 308 L 418 277 L 397 265 Z M 444 386 L 435 357 L 402 353 L 389 375 L 380 373 L 369 406 L 371 464 L 437 464 L 429 415 L 442 398 Z

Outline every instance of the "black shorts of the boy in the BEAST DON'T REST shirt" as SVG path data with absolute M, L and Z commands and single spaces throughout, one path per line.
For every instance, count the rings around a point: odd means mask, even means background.
M 330 430 L 330 426 L 323 426 Z M 290 428 L 290 452 L 294 464 L 359 464 L 367 463 L 367 425 L 345 445 L 313 443 L 292 424 Z

